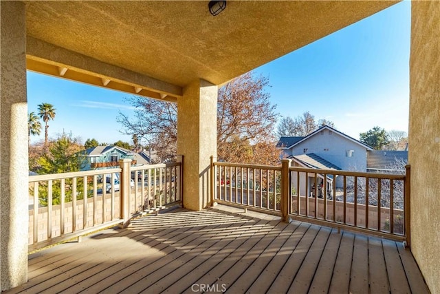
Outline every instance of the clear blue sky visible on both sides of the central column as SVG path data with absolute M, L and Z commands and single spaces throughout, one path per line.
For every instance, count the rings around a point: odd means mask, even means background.
M 404 1 L 255 70 L 269 78 L 272 104 L 281 116 L 309 111 L 359 138 L 379 126 L 408 132 L 410 2 Z M 83 142 L 130 142 L 119 132 L 118 111 L 131 114 L 129 94 L 28 72 L 28 111 L 51 103 L 49 134 Z M 32 142 L 42 140 L 32 136 Z

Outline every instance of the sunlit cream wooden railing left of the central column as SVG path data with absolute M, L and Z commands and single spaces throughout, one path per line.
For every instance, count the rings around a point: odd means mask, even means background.
M 181 158 L 171 164 L 29 176 L 29 251 L 181 202 Z M 35 209 L 34 209 L 35 208 Z

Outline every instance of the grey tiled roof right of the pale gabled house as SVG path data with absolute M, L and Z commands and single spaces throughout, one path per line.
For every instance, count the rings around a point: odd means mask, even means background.
M 371 150 L 366 156 L 366 171 L 399 174 L 405 172 L 408 150 Z

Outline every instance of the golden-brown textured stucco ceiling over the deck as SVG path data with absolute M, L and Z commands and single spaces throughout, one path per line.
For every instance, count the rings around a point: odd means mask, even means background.
M 221 84 L 396 1 L 29 1 L 28 36 L 184 87 Z

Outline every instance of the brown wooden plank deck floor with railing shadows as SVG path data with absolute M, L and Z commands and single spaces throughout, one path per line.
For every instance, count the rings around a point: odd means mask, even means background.
M 6 293 L 429 293 L 400 243 L 238 211 L 175 209 L 34 253 Z

